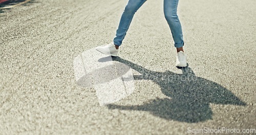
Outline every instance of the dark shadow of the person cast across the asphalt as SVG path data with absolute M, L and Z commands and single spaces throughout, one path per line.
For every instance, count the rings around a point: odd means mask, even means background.
M 138 71 L 141 75 L 134 75 L 135 80 L 151 80 L 158 84 L 162 93 L 169 98 L 157 98 L 143 105 L 110 104 L 109 109 L 149 111 L 154 116 L 167 120 L 196 123 L 212 119 L 210 103 L 246 105 L 220 84 L 197 77 L 188 66 L 181 68 L 182 74 L 176 74 L 147 70 L 120 57 L 113 57 L 113 60 Z M 98 61 L 104 62 L 104 58 Z

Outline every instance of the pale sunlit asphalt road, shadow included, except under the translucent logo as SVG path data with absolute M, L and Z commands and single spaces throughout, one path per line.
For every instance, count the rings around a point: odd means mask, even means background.
M 174 66 L 163 1 L 148 0 L 114 59 L 131 67 L 134 92 L 100 106 L 95 88 L 76 82 L 73 61 L 112 41 L 126 3 L 35 0 L 0 11 L 0 134 L 256 128 L 254 0 L 181 0 L 183 70 Z M 183 74 L 194 80 L 181 81 Z

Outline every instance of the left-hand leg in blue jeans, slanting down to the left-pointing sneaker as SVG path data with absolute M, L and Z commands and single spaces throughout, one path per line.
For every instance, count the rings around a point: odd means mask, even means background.
M 123 14 L 121 16 L 118 29 L 116 31 L 116 37 L 114 38 L 114 44 L 121 46 L 122 41 L 126 35 L 127 30 L 132 22 L 135 12 L 145 3 L 146 0 L 129 0 L 126 5 Z

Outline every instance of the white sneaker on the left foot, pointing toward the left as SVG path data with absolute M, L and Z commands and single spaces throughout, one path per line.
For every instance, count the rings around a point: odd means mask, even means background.
M 116 46 L 113 42 L 103 47 L 96 47 L 95 49 L 103 54 L 111 55 L 114 57 L 117 57 L 117 53 L 119 51 L 119 49 L 116 49 Z

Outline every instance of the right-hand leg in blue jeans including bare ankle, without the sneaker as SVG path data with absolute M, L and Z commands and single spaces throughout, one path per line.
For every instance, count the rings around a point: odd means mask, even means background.
M 180 24 L 179 17 L 177 15 L 177 7 L 179 0 L 164 0 L 164 16 L 168 22 L 170 31 L 174 39 L 174 46 L 177 49 L 177 52 L 183 51 L 183 34 Z

